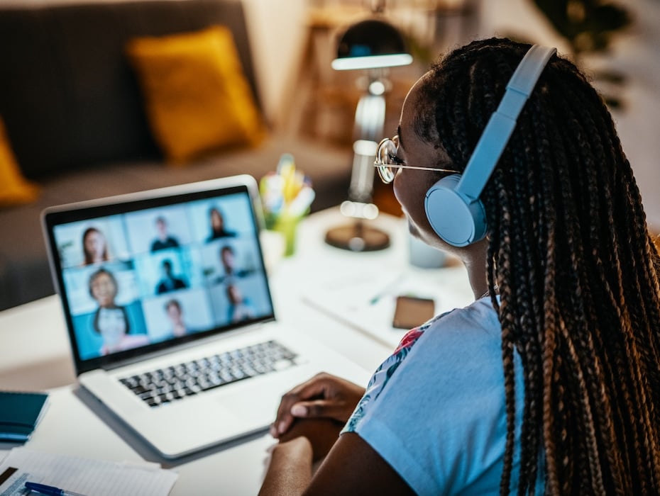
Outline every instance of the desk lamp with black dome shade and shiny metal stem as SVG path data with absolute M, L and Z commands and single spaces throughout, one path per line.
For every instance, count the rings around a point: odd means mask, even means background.
M 374 9 L 374 18 L 353 24 L 341 35 L 337 57 L 331 63 L 338 71 L 361 69 L 367 73 L 367 91 L 356 108 L 351 185 L 348 200 L 341 204 L 341 213 L 353 218 L 353 222 L 326 232 L 326 243 L 354 252 L 390 246 L 387 233 L 366 223 L 378 217 L 378 207 L 371 203 L 373 160 L 385 124 L 385 92 L 390 86 L 385 78 L 386 68 L 412 62 L 402 35 L 390 23 L 378 18 L 381 12 L 382 8 Z

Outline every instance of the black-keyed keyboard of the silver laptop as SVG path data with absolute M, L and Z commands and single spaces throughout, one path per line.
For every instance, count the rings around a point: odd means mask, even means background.
M 158 407 L 221 385 L 284 370 L 295 365 L 296 356 L 271 340 L 120 381 L 150 407 Z

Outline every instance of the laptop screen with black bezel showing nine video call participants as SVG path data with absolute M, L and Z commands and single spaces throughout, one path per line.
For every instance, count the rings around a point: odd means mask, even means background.
M 274 318 L 250 182 L 45 211 L 78 373 Z

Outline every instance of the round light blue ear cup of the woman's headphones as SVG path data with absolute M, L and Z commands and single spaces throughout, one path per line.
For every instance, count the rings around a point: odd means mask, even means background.
M 461 174 L 451 174 L 429 188 L 424 198 L 427 219 L 436 234 L 455 247 L 483 239 L 487 225 L 483 203 L 456 192 Z

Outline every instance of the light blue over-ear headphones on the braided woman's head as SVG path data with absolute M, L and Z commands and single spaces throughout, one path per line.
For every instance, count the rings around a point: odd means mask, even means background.
M 483 239 L 488 225 L 479 196 L 497 166 L 524 103 L 556 48 L 534 45 L 525 54 L 507 84 L 507 91 L 488 124 L 463 174 L 436 182 L 424 198 L 424 210 L 439 237 L 455 247 Z

